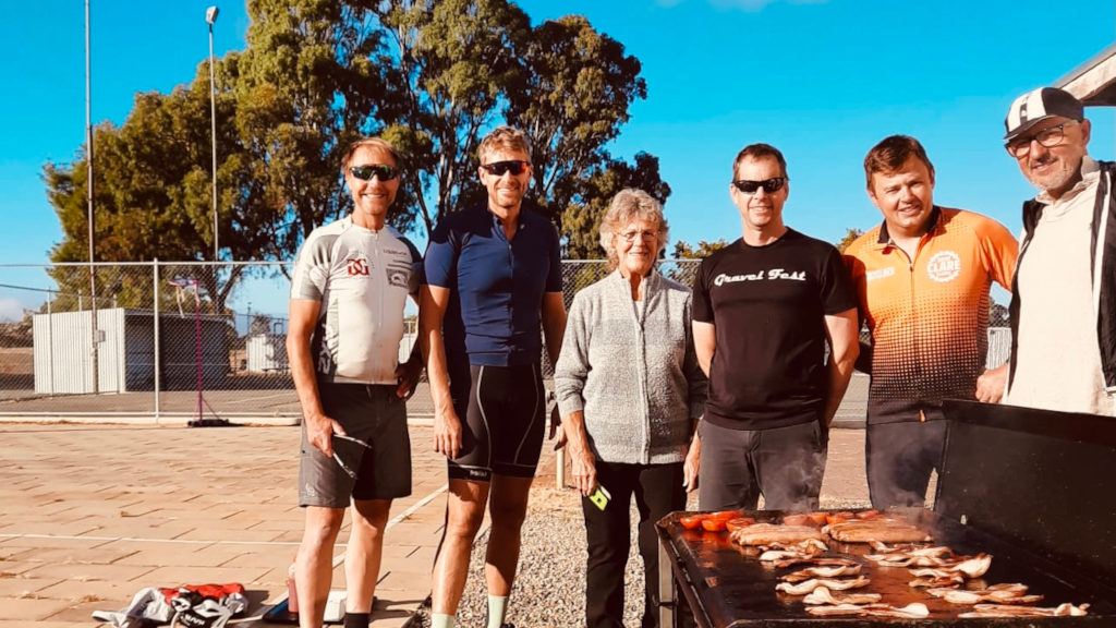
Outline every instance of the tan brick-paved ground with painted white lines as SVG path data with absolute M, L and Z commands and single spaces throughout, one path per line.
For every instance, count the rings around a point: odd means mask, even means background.
M 834 430 L 824 506 L 866 504 L 863 438 Z M 286 594 L 301 533 L 298 439 L 291 426 L 0 424 L 0 628 L 98 626 L 93 610 L 144 587 L 203 582 L 244 584 L 258 617 Z M 406 624 L 430 591 L 445 483 L 430 441 L 412 426 L 414 492 L 393 507 L 377 628 Z M 546 445 L 536 487 L 552 489 L 555 474 Z

